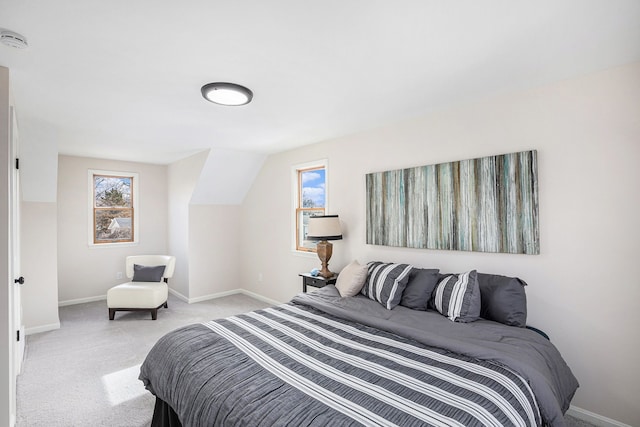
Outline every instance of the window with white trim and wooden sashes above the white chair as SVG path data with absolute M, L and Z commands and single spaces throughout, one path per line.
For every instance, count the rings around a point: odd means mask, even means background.
M 89 243 L 137 242 L 136 173 L 89 171 L 91 218 Z

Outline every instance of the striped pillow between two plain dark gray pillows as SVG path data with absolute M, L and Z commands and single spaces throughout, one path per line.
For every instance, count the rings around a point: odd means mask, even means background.
M 433 292 L 433 305 L 453 322 L 473 322 L 480 318 L 478 274 L 471 270 L 444 277 Z

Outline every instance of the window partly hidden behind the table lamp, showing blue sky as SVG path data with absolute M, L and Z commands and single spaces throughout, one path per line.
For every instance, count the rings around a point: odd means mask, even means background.
M 327 209 L 327 162 L 294 167 L 295 250 L 315 252 L 317 241 L 306 240 L 309 217 Z

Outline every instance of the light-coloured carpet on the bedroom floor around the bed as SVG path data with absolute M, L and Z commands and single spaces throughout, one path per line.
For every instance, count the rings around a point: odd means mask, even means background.
M 173 296 L 158 320 L 118 312 L 108 320 L 105 301 L 60 308 L 61 328 L 27 337 L 18 377 L 17 427 L 149 426 L 154 398 L 138 380 L 153 344 L 180 326 L 268 305 L 245 295 L 197 304 Z M 568 427 L 591 427 L 566 417 Z

